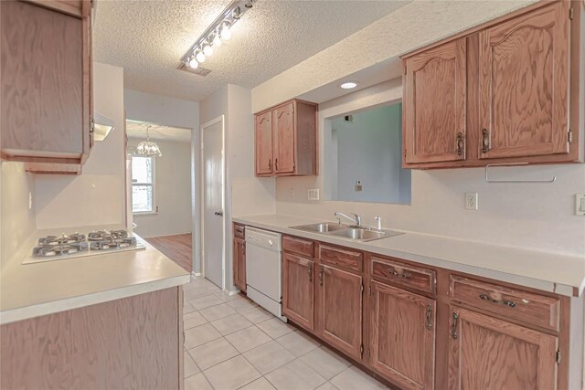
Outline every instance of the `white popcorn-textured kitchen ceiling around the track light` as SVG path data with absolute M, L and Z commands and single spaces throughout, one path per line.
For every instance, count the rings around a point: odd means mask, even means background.
M 122 67 L 126 88 L 199 101 L 226 83 L 253 88 L 408 3 L 258 0 L 202 78 L 176 69 L 179 58 L 229 0 L 100 0 L 94 58 Z

